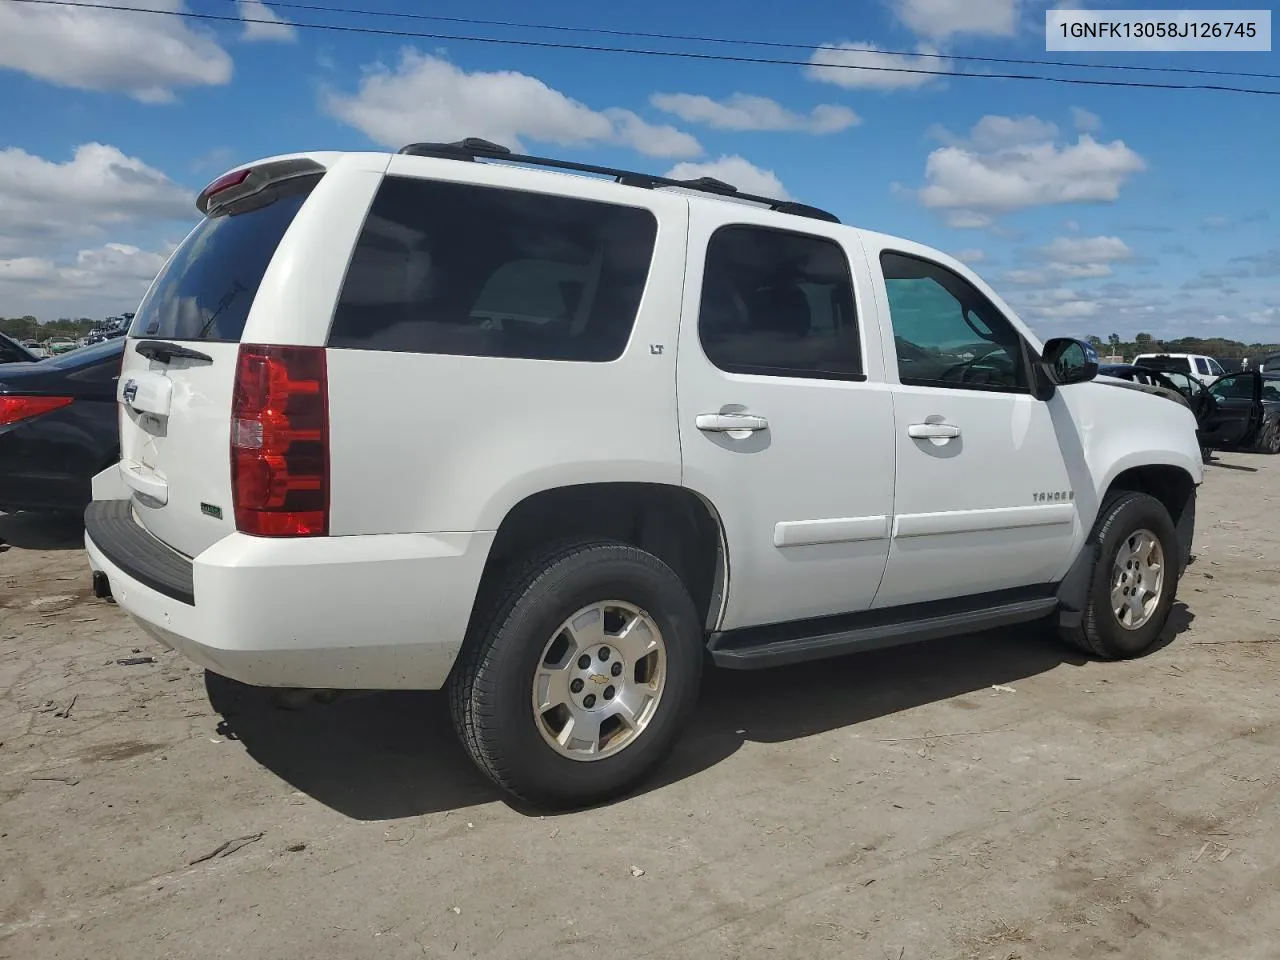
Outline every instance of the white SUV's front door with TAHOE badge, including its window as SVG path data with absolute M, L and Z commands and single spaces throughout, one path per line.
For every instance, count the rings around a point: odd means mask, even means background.
M 868 255 L 899 380 L 893 543 L 876 607 L 1055 582 L 1079 536 L 1061 397 L 1055 410 L 1032 396 L 1023 338 L 972 283 L 923 256 Z

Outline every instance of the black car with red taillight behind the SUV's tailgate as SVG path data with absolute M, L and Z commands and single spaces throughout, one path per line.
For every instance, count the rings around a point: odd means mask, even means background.
M 124 340 L 0 366 L 0 511 L 81 513 L 119 460 Z

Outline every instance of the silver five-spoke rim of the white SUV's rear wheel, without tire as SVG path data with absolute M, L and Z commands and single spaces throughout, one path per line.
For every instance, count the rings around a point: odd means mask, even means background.
M 654 620 L 605 600 L 573 613 L 548 640 L 534 673 L 534 722 L 556 753 L 600 760 L 626 749 L 658 709 L 667 646 Z

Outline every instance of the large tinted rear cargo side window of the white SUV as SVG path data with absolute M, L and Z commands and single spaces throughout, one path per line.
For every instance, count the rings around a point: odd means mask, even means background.
M 388 177 L 352 255 L 329 346 L 617 360 L 657 233 L 648 210 Z

